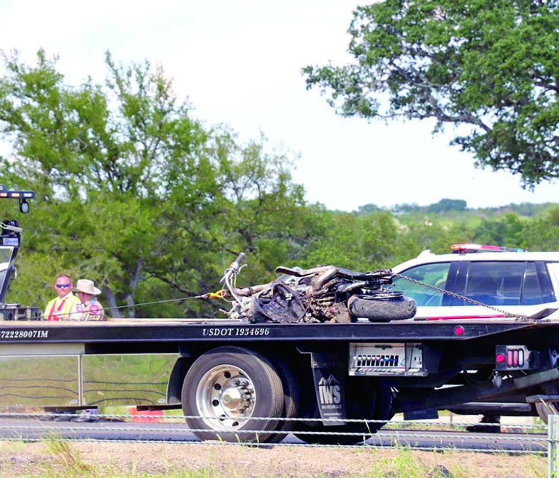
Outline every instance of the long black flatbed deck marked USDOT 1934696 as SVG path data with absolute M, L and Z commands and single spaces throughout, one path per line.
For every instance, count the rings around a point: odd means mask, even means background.
M 0 321 L 5 343 L 467 341 L 559 330 L 559 320 L 445 319 L 389 323 L 245 324 L 225 319 L 110 319 L 106 322 Z M 555 332 L 555 331 L 554 331 Z M 559 336 L 556 332 L 553 336 Z

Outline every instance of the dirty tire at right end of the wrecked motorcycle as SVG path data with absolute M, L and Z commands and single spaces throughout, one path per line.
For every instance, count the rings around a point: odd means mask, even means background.
M 352 295 L 348 307 L 354 316 L 366 317 L 371 322 L 411 319 L 417 311 L 415 300 L 409 297 L 382 299 L 374 295 Z

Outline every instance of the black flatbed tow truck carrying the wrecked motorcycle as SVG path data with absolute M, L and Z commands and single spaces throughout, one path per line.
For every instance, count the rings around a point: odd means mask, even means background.
M 0 245 L 10 256 L 5 292 L 20 231 L 0 235 L 12 238 Z M 182 408 L 200 439 L 262 443 L 293 431 L 310 443 L 354 443 L 395 413 L 433 418 L 494 402 L 546 418 L 559 400 L 554 310 L 387 323 L 13 318 L 0 321 L 0 406 Z

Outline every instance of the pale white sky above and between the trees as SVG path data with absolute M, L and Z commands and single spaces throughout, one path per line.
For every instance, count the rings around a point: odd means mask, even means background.
M 70 83 L 105 78 L 104 52 L 129 64 L 148 59 L 173 78 L 179 99 L 207 124 L 226 123 L 241 138 L 262 131 L 269 146 L 300 154 L 295 180 L 307 199 L 330 209 L 374 203 L 468 207 L 558 202 L 558 183 L 534 193 L 519 176 L 473 167 L 473 157 L 431 136 L 433 123 L 368 123 L 334 113 L 307 92 L 307 64 L 350 60 L 347 28 L 357 0 L 0 0 L 0 49 L 34 61 L 40 46 L 60 56 Z M 1 145 L 0 145 L 1 146 Z M 5 145 L 4 145 L 5 147 Z

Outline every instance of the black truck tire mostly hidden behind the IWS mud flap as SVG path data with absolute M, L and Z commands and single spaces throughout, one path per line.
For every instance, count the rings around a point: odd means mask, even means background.
M 368 391 L 368 393 L 367 393 Z M 376 379 L 347 377 L 345 383 L 345 412 L 351 419 L 389 420 L 392 417 L 392 394 L 390 388 L 381 386 Z M 318 410 L 314 418 L 318 417 Z M 357 435 L 323 435 L 297 433 L 295 436 L 310 444 L 350 445 L 364 443 L 385 423 L 352 422 L 342 426 L 324 426 L 321 422 L 297 422 L 298 432 L 361 433 Z

